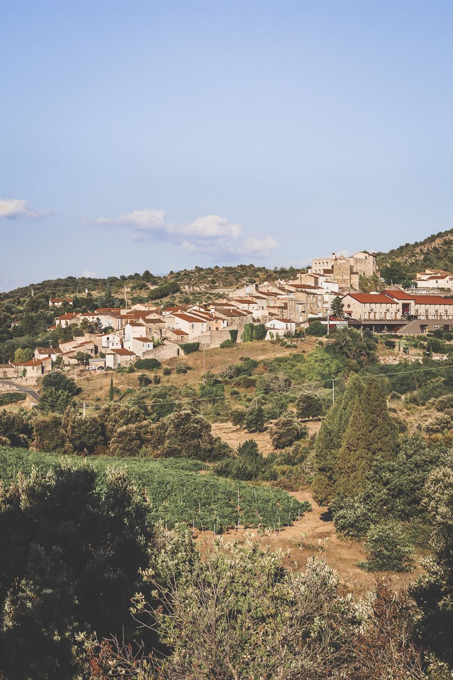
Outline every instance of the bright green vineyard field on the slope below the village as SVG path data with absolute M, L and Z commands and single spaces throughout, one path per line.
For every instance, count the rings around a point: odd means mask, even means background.
M 78 461 L 80 458 L 68 460 Z M 11 483 L 18 471 L 29 475 L 33 468 L 45 472 L 58 466 L 58 456 L 14 447 L 0 447 L 0 479 Z M 137 487 L 145 489 L 151 511 L 149 520 L 172 528 L 184 522 L 217 533 L 234 526 L 278 528 L 304 512 L 286 492 L 266 486 L 250 486 L 211 474 L 200 474 L 202 464 L 193 460 L 152 460 L 151 458 L 90 458 L 90 465 L 104 479 L 107 468 L 127 471 Z

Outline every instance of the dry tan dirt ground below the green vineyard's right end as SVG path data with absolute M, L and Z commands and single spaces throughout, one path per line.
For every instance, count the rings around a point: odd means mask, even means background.
M 229 530 L 223 534 L 225 541 L 246 541 L 247 537 L 257 541 L 261 547 L 269 546 L 271 550 L 290 550 L 290 559 L 296 566 L 287 561 L 289 568 L 304 571 L 306 561 L 312 556 L 325 558 L 327 564 L 340 575 L 344 593 L 352 592 L 359 597 L 369 590 L 373 590 L 376 577 L 380 573 L 367 573 L 357 566 L 357 562 L 366 559 L 366 553 L 360 543 L 343 541 L 336 533 L 328 509 L 320 507 L 313 500 L 310 491 L 292 492 L 291 496 L 297 500 L 308 500 L 312 511 L 306 513 L 300 520 L 279 532 L 257 534 L 256 529 L 244 530 L 242 527 Z M 196 542 L 201 551 L 209 549 L 213 541 L 213 532 L 196 532 Z M 407 588 L 407 583 L 416 577 L 412 574 L 386 573 L 391 579 L 393 588 L 401 592 Z

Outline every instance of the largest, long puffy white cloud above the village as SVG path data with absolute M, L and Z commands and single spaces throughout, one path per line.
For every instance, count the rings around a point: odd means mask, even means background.
M 220 215 L 204 215 L 183 224 L 166 222 L 164 210 L 147 208 L 116 218 L 100 217 L 94 224 L 119 224 L 132 228 L 132 239 L 143 241 L 151 237 L 166 239 L 175 248 L 210 256 L 250 254 L 266 257 L 279 248 L 271 235 L 256 238 L 242 235 L 242 226 L 228 222 Z

